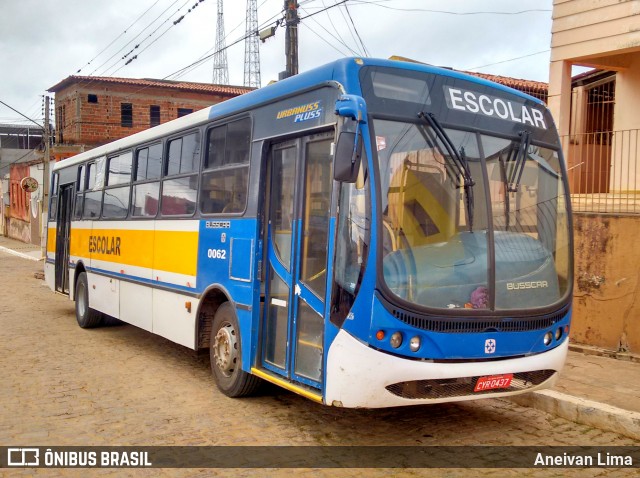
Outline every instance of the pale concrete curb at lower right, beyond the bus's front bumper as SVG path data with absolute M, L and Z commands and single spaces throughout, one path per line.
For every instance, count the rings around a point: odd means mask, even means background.
M 640 440 L 640 413 L 554 390 L 542 390 L 509 397 L 518 405 L 542 410 L 572 422 Z

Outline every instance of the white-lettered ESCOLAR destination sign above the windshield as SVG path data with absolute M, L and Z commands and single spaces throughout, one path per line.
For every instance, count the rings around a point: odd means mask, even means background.
M 445 87 L 445 90 L 448 90 L 446 99 L 449 108 L 547 129 L 544 114 L 537 108 L 460 88 Z

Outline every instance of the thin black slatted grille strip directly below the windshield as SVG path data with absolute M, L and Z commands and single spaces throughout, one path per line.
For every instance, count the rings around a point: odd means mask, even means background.
M 427 317 L 393 309 L 393 315 L 407 325 L 431 332 L 450 334 L 479 333 L 479 332 L 526 332 L 551 327 L 562 320 L 567 310 L 539 317 L 531 318 L 491 318 L 491 319 L 451 319 L 442 317 Z

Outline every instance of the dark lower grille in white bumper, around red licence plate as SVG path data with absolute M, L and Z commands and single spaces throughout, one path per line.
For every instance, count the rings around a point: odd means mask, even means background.
M 494 390 L 474 392 L 473 389 L 480 377 L 446 378 L 436 380 L 414 380 L 387 385 L 386 389 L 394 395 L 408 399 L 438 399 L 466 397 L 470 395 L 491 395 L 495 393 L 516 392 L 540 385 L 549 379 L 555 370 L 536 370 L 513 374 L 511 386 Z

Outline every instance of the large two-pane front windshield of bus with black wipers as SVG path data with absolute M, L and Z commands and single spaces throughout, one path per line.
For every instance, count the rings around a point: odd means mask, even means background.
M 393 294 L 428 308 L 484 310 L 564 298 L 569 226 L 556 151 L 528 135 L 450 127 L 443 135 L 427 121 L 373 126 L 382 277 Z

